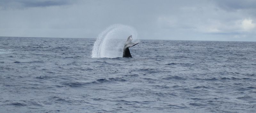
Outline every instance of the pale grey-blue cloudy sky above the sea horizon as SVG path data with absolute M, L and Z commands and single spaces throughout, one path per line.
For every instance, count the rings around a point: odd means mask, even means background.
M 256 0 L 0 0 L 0 37 L 97 38 L 113 24 L 138 39 L 256 41 Z

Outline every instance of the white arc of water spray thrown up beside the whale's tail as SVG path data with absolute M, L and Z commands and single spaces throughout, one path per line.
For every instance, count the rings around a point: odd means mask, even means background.
M 98 36 L 92 48 L 93 58 L 116 58 L 123 56 L 123 48 L 126 39 L 132 35 L 137 38 L 137 31 L 128 25 L 114 24 L 109 26 Z

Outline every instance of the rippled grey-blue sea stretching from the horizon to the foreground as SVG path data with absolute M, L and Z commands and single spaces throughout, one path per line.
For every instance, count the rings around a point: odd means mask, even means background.
M 251 112 L 256 42 L 141 40 L 91 58 L 95 39 L 0 37 L 0 112 Z

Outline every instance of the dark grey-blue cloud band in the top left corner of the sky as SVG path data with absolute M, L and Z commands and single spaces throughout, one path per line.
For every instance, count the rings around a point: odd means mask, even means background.
M 33 7 L 62 6 L 75 3 L 77 0 L 1 0 L 0 9 L 24 9 Z

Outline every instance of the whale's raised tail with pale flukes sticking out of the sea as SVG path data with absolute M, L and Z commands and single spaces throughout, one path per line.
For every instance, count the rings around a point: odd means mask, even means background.
M 132 35 L 129 36 L 127 38 L 126 42 L 124 43 L 123 57 L 131 57 L 132 58 L 129 47 L 132 47 L 132 46 L 137 45 L 137 44 L 138 43 L 132 43 Z

